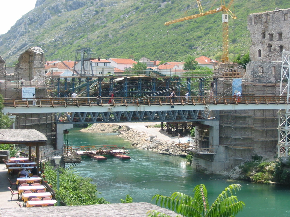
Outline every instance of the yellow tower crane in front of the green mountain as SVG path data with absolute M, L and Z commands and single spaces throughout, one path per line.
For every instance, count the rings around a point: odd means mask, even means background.
M 185 21 L 185 20 L 190 20 L 190 19 L 194 19 L 194 18 L 197 18 L 197 17 L 206 16 L 206 15 L 209 15 L 209 14 L 214 14 L 214 13 L 222 11 L 222 63 L 229 64 L 228 15 L 230 15 L 233 19 L 237 18 L 229 9 L 229 7 L 231 6 L 231 4 L 233 3 L 234 0 L 231 0 L 227 7 L 225 6 L 224 0 L 220 0 L 221 6 L 219 8 L 214 9 L 214 10 L 209 10 L 209 11 L 207 11 L 205 13 L 203 12 L 202 6 L 200 4 L 200 0 L 196 0 L 196 1 L 197 1 L 198 9 L 200 11 L 199 14 L 194 14 L 194 15 L 186 16 L 186 17 L 183 17 L 183 18 L 180 18 L 180 19 L 168 21 L 164 25 L 169 25 L 169 24 L 172 24 L 172 23 L 177 23 L 177 22 L 181 22 L 181 21 Z

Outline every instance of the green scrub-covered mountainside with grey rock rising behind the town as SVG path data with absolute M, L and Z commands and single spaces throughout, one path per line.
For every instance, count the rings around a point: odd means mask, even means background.
M 223 1 L 223 0 L 222 0 Z M 229 0 L 226 0 L 226 5 Z M 204 12 L 220 1 L 203 1 Z M 230 60 L 249 52 L 247 16 L 290 8 L 289 0 L 234 0 L 229 19 Z M 4 9 L 5 10 L 5 9 Z M 166 21 L 198 14 L 187 0 L 37 0 L 35 8 L 0 35 L 0 55 L 11 63 L 24 50 L 41 47 L 46 60 L 74 60 L 75 50 L 89 47 L 101 58 L 147 57 L 184 61 L 186 55 L 219 59 L 222 54 L 222 13 L 165 26 Z

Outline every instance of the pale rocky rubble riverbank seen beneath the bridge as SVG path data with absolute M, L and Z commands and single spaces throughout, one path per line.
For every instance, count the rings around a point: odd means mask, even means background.
M 154 137 L 154 135 L 150 135 L 145 131 L 127 129 L 128 127 L 126 125 L 93 124 L 92 126 L 81 129 L 80 131 L 89 133 L 115 133 L 118 132 L 118 130 L 126 130 L 123 134 L 119 135 L 119 137 L 132 142 L 131 145 L 135 148 L 151 150 L 168 155 L 186 155 L 186 153 L 182 152 L 177 148 L 177 146 L 175 146 L 174 141 L 167 141 L 158 137 Z

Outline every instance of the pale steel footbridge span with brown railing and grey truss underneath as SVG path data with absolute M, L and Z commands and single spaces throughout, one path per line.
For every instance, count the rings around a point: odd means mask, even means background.
M 57 124 L 182 122 L 219 119 L 218 110 L 287 110 L 286 96 L 5 98 L 4 113 L 55 113 Z

